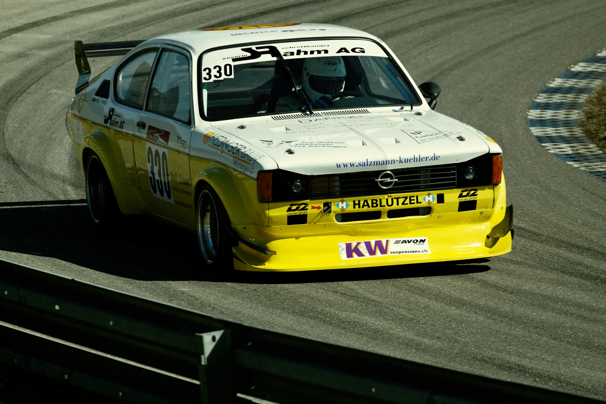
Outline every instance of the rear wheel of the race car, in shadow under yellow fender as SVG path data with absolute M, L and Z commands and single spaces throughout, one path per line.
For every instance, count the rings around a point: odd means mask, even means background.
M 95 152 L 88 154 L 85 177 L 90 217 L 99 228 L 108 228 L 116 222 L 120 211 L 105 167 Z

